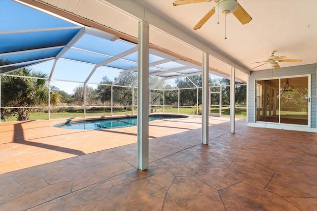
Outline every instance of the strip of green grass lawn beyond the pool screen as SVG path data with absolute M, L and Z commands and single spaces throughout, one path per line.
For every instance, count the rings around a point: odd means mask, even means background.
M 153 112 L 155 112 L 155 107 L 153 107 Z M 158 108 L 156 109 L 157 113 L 162 113 L 163 109 Z M 178 113 L 178 108 L 177 107 L 165 107 L 164 109 L 165 113 Z M 121 111 L 113 111 L 113 115 L 122 115 L 122 114 L 132 114 L 132 111 L 130 110 L 121 110 Z M 193 107 L 180 107 L 179 108 L 179 113 L 180 114 L 196 114 L 196 108 Z M 211 108 L 211 113 L 219 113 L 219 109 L 216 108 Z M 134 114 L 137 114 L 137 110 L 134 110 Z M 235 114 L 237 118 L 246 118 L 247 116 L 247 109 L 246 108 L 236 108 L 235 109 Z M 86 117 L 93 117 L 93 116 L 110 116 L 111 112 L 110 111 L 86 111 Z M 222 117 L 229 117 L 230 116 L 230 108 L 229 107 L 223 107 L 221 109 L 221 116 Z M 78 111 L 78 112 L 58 112 L 58 113 L 52 113 L 51 112 L 51 119 L 58 119 L 58 118 L 76 118 L 76 117 L 84 117 L 84 112 L 83 111 Z M 30 119 L 29 120 L 47 120 L 49 118 L 48 113 L 38 113 L 38 112 L 33 112 L 30 113 Z M 5 122 L 12 122 L 16 121 L 15 117 L 11 117 Z

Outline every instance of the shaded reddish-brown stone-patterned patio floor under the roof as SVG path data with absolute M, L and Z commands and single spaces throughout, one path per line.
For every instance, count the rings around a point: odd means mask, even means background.
M 314 210 L 317 134 L 236 121 L 150 140 L 150 167 L 135 169 L 137 144 L 0 175 L 1 210 Z M 290 185 L 291 184 L 291 185 Z

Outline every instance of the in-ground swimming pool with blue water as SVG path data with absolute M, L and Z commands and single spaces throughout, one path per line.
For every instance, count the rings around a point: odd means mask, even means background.
M 175 119 L 175 118 L 186 118 L 184 115 L 150 115 L 149 122 L 154 120 L 162 119 Z M 113 129 L 119 127 L 132 127 L 136 126 L 137 116 L 132 117 L 117 117 L 109 119 L 94 119 L 94 120 L 83 120 L 67 122 L 53 127 L 66 128 L 66 129 Z

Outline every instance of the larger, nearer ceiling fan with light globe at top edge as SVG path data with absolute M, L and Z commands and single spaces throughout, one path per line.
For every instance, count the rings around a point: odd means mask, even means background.
M 199 2 L 206 2 L 211 0 L 176 0 L 173 2 L 173 5 L 182 5 L 188 3 L 199 3 Z M 251 16 L 242 8 L 242 6 L 238 3 L 237 0 L 213 0 L 216 5 L 207 12 L 207 14 L 196 24 L 194 30 L 200 29 L 208 19 L 217 12 L 218 14 L 221 13 L 225 16 L 227 14 L 233 13 L 234 16 L 242 23 L 246 24 L 249 23 L 252 18 Z M 217 24 L 219 21 L 217 22 Z

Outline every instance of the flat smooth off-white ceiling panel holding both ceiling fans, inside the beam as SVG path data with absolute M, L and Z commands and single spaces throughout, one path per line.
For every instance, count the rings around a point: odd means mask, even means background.
M 199 30 L 192 28 L 215 5 L 210 2 L 173 6 L 174 0 L 134 0 L 138 4 L 209 43 L 247 68 L 265 61 L 269 51 L 300 63 L 279 62 L 280 67 L 317 63 L 317 0 L 238 0 L 252 17 L 242 25 L 233 14 L 225 18 L 215 13 Z M 268 69 L 263 65 L 257 70 Z M 253 71 L 253 70 L 251 70 Z

